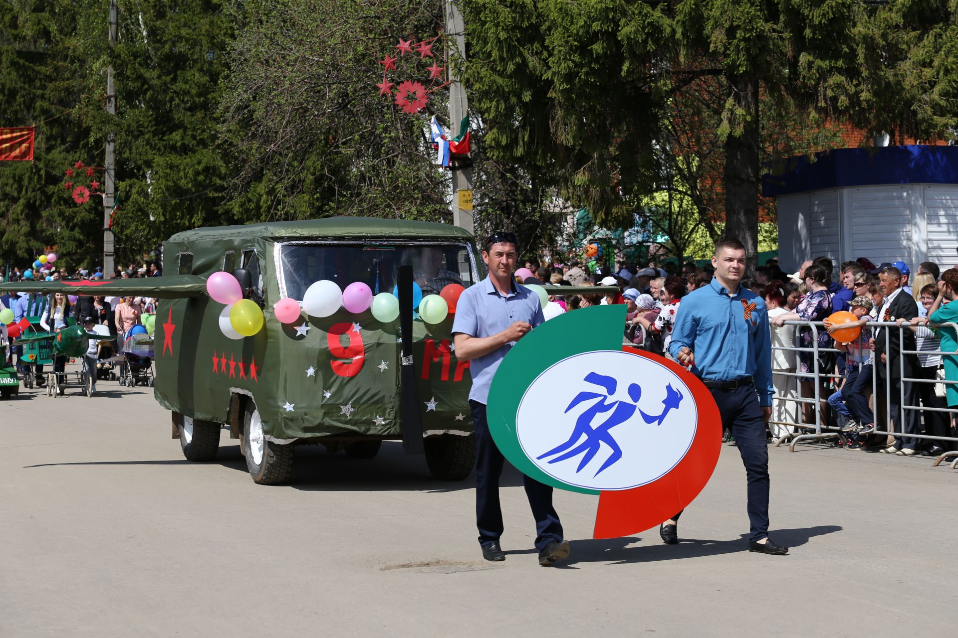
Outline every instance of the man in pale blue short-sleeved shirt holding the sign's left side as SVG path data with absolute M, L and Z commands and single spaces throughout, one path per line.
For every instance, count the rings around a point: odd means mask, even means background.
M 489 276 L 466 289 L 456 302 L 452 324 L 456 358 L 469 361 L 469 407 L 476 432 L 476 526 L 487 561 L 505 561 L 499 545 L 504 525 L 499 506 L 499 476 L 505 458 L 495 447 L 486 419 L 492 377 L 516 341 L 545 319 L 538 296 L 515 283 L 516 238 L 495 232 L 482 253 Z M 552 505 L 552 487 L 524 476 L 526 496 L 536 517 L 538 561 L 546 566 L 569 557 L 569 541 Z

